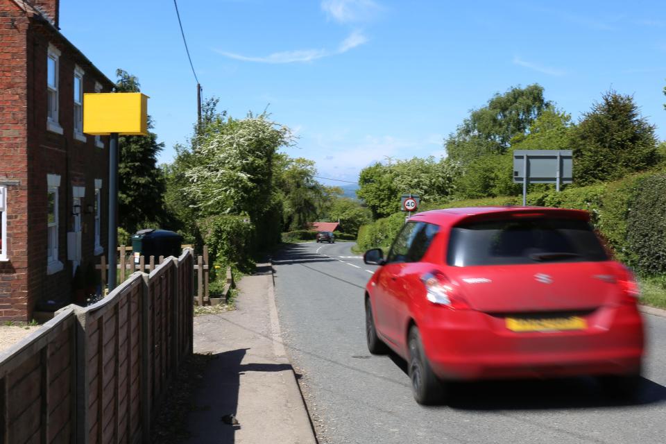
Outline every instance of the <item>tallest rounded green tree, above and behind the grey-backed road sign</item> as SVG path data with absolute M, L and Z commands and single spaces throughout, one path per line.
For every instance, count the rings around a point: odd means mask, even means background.
M 543 98 L 543 87 L 511 87 L 504 94 L 495 94 L 488 104 L 472 110 L 470 117 L 445 141 L 448 157 L 461 164 L 491 154 L 503 154 L 511 139 L 524 135 L 540 114 L 552 106 Z

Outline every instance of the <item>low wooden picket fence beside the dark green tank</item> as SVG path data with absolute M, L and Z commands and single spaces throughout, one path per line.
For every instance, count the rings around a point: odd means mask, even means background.
M 189 246 L 185 246 L 189 248 Z M 139 256 L 139 260 L 135 261 L 132 252 L 132 247 L 121 245 L 118 247 L 118 260 L 116 261 L 116 268 L 119 270 L 118 277 L 120 282 L 125 282 L 127 277 L 134 273 L 135 271 L 142 271 L 152 273 L 155 270 L 155 266 L 159 266 L 164 261 L 164 256 L 150 256 L 147 258 L 145 256 Z M 97 270 L 100 271 L 101 276 L 101 288 L 105 288 L 107 285 L 107 277 L 109 271 L 109 264 L 106 259 L 106 256 L 102 255 L 100 257 L 100 263 L 95 266 Z M 210 262 L 208 261 L 208 246 L 203 246 L 203 254 L 196 257 L 196 262 L 194 262 L 194 272 L 196 273 L 196 298 L 194 302 L 197 305 L 212 305 L 220 302 L 220 298 L 210 298 Z M 231 273 L 231 269 L 227 268 L 225 270 L 225 287 L 223 289 L 223 298 L 226 300 L 228 297 L 230 289 L 234 288 L 234 278 Z

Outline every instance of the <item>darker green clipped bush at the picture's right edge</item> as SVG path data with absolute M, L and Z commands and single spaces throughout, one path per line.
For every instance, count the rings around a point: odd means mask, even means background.
M 666 174 L 638 180 L 626 222 L 631 265 L 643 273 L 666 273 Z

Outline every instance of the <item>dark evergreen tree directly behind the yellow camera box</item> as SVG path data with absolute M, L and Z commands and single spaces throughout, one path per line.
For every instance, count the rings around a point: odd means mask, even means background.
M 122 69 L 116 70 L 117 92 L 139 92 L 139 80 Z M 148 117 L 148 129 L 153 121 Z M 164 210 L 164 175 L 157 168 L 157 154 L 164 144 L 157 135 L 121 136 L 118 139 L 118 213 L 121 228 L 133 233 L 146 225 L 168 223 Z

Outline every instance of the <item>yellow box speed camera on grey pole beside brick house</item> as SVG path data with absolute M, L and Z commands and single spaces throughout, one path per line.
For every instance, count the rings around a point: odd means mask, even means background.
M 83 132 L 109 136 L 109 292 L 116 287 L 118 136 L 148 135 L 148 96 L 140 92 L 83 94 Z

